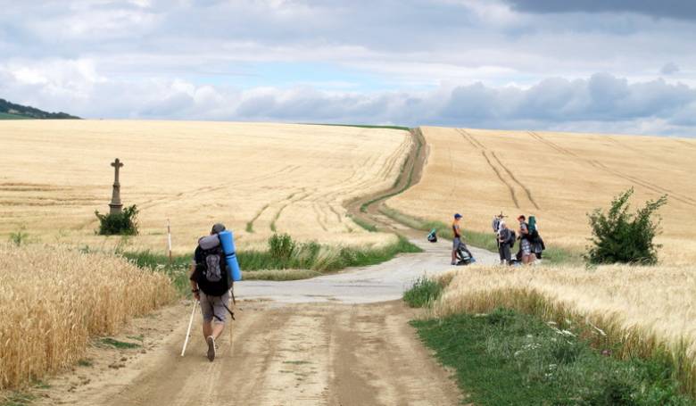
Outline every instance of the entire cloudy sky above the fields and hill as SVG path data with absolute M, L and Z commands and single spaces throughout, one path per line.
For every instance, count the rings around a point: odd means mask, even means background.
M 0 0 L 0 98 L 89 119 L 696 137 L 693 0 Z

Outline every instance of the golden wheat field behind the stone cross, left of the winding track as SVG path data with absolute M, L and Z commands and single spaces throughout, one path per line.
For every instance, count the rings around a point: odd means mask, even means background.
M 273 232 L 323 244 L 383 245 L 344 203 L 394 184 L 405 131 L 292 124 L 128 120 L 0 122 L 0 237 L 187 253 L 224 222 L 244 248 Z M 140 235 L 95 236 L 120 158 L 121 200 L 137 204 Z

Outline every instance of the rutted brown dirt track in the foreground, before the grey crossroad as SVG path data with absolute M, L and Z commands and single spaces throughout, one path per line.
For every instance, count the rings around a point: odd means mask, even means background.
M 185 357 L 186 308 L 153 352 L 101 372 L 47 403 L 81 405 L 372 405 L 457 404 L 449 374 L 408 325 L 401 302 L 275 306 L 247 302 L 205 358 L 196 331 Z M 200 316 L 196 318 L 200 322 Z M 157 322 L 162 323 L 164 319 Z M 115 385 L 114 385 L 115 384 Z M 59 387 L 56 387 L 58 389 Z

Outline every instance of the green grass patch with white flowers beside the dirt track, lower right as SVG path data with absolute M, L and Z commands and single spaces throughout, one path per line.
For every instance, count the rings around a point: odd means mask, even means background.
M 566 326 L 515 311 L 412 321 L 476 405 L 693 405 L 669 363 L 616 360 Z

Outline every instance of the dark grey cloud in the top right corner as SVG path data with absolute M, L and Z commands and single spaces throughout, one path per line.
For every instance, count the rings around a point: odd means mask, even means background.
M 696 20 L 692 0 L 507 0 L 519 12 L 634 12 L 651 17 Z

